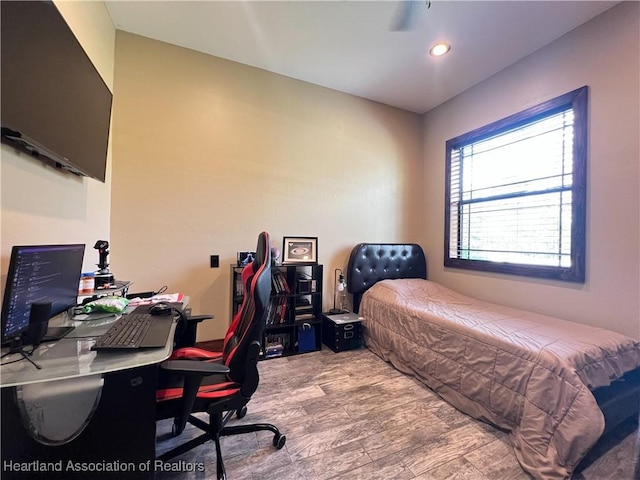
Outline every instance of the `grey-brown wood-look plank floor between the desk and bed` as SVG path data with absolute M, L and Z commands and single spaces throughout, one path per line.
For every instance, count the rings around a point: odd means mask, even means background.
M 457 411 L 366 349 L 336 354 L 325 347 L 263 361 L 259 369 L 247 416 L 231 424 L 274 423 L 286 445 L 276 450 L 269 432 L 224 437 L 229 480 L 530 478 L 505 433 Z M 170 426 L 158 426 L 159 454 L 197 433 L 188 427 L 174 439 Z M 622 430 L 575 479 L 633 479 L 637 424 L 627 422 Z M 208 442 L 163 465 L 180 471 L 156 478 L 215 478 L 215 461 Z

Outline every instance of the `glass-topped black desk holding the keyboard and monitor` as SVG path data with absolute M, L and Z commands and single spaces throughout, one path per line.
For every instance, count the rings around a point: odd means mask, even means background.
M 153 478 L 157 369 L 172 340 L 159 349 L 91 351 L 91 337 L 113 321 L 73 322 L 67 337 L 31 356 L 40 370 L 27 360 L 2 366 L 3 479 Z

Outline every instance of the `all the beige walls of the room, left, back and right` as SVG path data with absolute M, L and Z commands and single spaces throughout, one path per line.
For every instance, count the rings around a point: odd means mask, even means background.
M 430 112 L 424 119 L 232 62 L 119 33 L 99 2 L 56 5 L 115 89 L 107 182 L 78 179 L 2 145 L 0 239 L 98 238 L 134 289 L 229 310 L 229 267 L 259 230 L 319 237 L 325 306 L 333 269 L 360 241 L 417 241 L 429 273 L 465 293 L 640 338 L 638 3 L 623 4 Z M 114 60 L 115 58 L 115 60 Z M 113 79 L 115 65 L 115 80 Z M 587 282 L 444 270 L 444 142 L 591 87 Z M 114 86 L 115 85 L 115 86 Z M 420 138 L 424 134 L 421 151 Z M 424 166 L 422 157 L 424 156 Z M 357 179 L 357 180 L 355 180 Z M 112 204 L 111 195 L 113 195 Z M 220 255 L 221 268 L 208 267 Z

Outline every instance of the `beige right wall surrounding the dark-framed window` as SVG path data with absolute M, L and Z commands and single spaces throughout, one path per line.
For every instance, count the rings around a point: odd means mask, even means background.
M 614 7 L 425 116 L 429 276 L 461 292 L 640 338 L 640 3 Z M 590 87 L 584 285 L 444 269 L 444 144 Z

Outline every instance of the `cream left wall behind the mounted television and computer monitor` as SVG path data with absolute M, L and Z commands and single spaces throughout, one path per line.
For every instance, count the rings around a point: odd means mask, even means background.
M 104 4 L 55 4 L 113 90 L 115 28 Z M 84 268 L 95 270 L 98 255 L 92 247 L 96 240 L 109 238 L 110 150 L 106 183 L 58 172 L 5 144 L 0 155 L 2 288 L 13 245 L 86 243 Z

